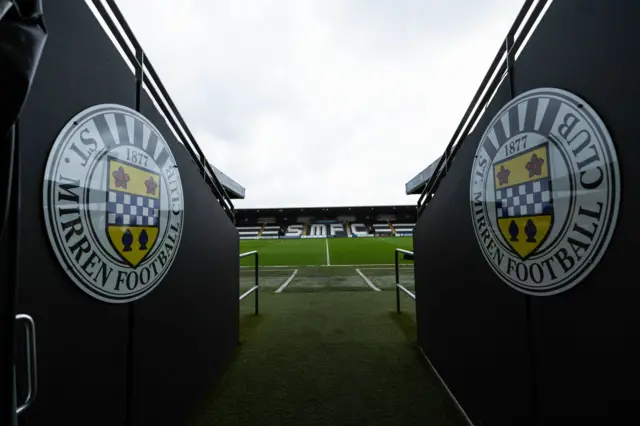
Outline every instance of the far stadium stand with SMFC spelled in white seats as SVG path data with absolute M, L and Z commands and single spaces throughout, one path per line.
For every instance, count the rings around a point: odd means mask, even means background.
M 408 236 L 415 206 L 238 209 L 241 239 Z

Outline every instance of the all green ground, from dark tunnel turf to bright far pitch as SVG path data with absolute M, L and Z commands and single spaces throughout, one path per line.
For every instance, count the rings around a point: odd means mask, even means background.
M 235 360 L 195 424 L 464 425 L 418 354 L 414 301 L 395 312 L 396 247 L 412 239 L 242 240 L 260 255 L 260 314 L 241 302 Z M 241 265 L 242 293 L 255 278 L 253 259 Z

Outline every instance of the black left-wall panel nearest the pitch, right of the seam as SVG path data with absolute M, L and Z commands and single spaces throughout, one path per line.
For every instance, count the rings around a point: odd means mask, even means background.
M 133 424 L 182 425 L 197 415 L 238 343 L 239 238 L 146 94 L 141 112 L 173 151 L 185 206 L 171 270 L 135 303 Z

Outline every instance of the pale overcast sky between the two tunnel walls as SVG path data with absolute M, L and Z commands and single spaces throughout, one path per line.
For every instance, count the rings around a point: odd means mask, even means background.
M 236 208 L 413 204 L 522 0 L 118 0 Z

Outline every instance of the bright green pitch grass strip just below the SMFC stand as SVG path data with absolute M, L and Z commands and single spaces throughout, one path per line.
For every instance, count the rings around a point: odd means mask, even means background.
M 240 252 L 258 250 L 261 266 L 327 265 L 327 245 L 331 265 L 392 264 L 396 248 L 413 249 L 411 237 L 307 238 L 290 240 L 241 240 Z M 409 263 L 400 257 L 401 263 Z M 253 264 L 243 258 L 240 265 Z

